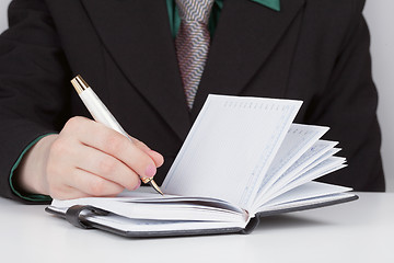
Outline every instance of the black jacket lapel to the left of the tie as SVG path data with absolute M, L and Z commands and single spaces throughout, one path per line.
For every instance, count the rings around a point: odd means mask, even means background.
M 165 1 L 81 1 L 129 82 L 184 139 L 190 121 Z

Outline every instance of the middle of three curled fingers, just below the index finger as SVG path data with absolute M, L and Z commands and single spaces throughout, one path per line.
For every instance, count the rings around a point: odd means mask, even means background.
M 140 185 L 138 174 L 118 159 L 80 145 L 77 149 L 80 158 L 76 159 L 76 168 L 100 175 L 128 190 L 136 190 Z

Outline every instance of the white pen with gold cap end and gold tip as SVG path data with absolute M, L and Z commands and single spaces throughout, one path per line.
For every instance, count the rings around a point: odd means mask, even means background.
M 104 124 L 108 128 L 115 129 L 131 141 L 130 137 L 121 128 L 120 124 L 115 119 L 108 108 L 104 105 L 104 103 L 99 99 L 92 88 L 82 79 L 81 76 L 78 75 L 76 78 L 73 78 L 71 83 L 81 98 L 83 104 L 93 116 L 94 121 Z M 159 194 L 164 195 L 153 179 L 141 178 L 141 181 L 146 184 L 149 183 Z

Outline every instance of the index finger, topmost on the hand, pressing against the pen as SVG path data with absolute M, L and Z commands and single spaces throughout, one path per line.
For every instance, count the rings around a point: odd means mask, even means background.
M 77 133 L 80 142 L 104 151 L 132 169 L 139 176 L 152 178 L 157 165 L 152 158 L 126 136 L 86 118 L 71 118 L 65 133 Z

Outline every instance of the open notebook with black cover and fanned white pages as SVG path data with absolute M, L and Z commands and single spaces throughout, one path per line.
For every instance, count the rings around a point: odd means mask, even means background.
M 258 218 L 357 199 L 314 179 L 346 167 L 328 127 L 293 124 L 302 102 L 209 95 L 162 185 L 54 199 L 47 211 L 127 237 L 251 232 Z

